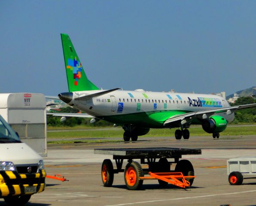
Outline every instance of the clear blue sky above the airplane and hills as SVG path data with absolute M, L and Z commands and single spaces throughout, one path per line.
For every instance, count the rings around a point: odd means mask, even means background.
M 100 88 L 255 86 L 256 1 L 0 1 L 0 93 L 68 90 L 60 33 Z

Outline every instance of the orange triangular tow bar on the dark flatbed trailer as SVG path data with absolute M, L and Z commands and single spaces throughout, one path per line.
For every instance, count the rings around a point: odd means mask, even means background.
M 172 185 L 176 185 L 180 188 L 187 188 L 190 186 L 189 181 L 186 179 L 195 178 L 195 176 L 183 176 L 180 172 L 175 173 L 151 173 L 149 172 L 150 177 L 140 177 L 141 180 L 146 179 L 160 179 L 162 181 L 168 182 Z

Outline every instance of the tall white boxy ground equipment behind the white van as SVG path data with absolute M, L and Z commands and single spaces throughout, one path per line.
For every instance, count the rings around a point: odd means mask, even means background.
M 0 115 L 18 132 L 22 142 L 47 156 L 46 100 L 43 94 L 0 94 Z

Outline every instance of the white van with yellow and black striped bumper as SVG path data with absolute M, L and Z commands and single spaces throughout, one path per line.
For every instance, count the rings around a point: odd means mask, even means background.
M 43 158 L 0 115 L 0 198 L 9 205 L 24 205 L 45 189 Z

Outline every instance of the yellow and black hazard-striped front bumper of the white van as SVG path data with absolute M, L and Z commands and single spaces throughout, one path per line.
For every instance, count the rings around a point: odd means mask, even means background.
M 25 194 L 25 188 L 36 186 L 36 192 L 45 189 L 45 170 L 40 173 L 18 174 L 16 171 L 0 171 L 0 197 Z

